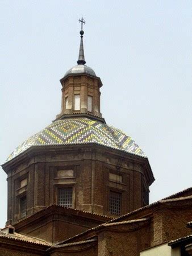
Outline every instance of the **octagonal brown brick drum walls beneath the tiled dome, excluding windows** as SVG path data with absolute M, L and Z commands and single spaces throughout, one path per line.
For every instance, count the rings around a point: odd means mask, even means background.
M 118 166 L 119 158 L 123 158 Z M 145 174 L 146 159 L 130 156 L 116 150 L 96 145 L 46 147 L 31 150 L 23 159 L 6 166 L 8 174 L 7 225 L 20 220 L 19 200 L 27 197 L 27 216 L 57 204 L 57 189 L 72 187 L 72 208 L 107 215 L 110 191 L 120 192 L 124 214 L 143 207 L 143 185 L 147 189 L 151 180 Z M 58 171 L 72 171 L 73 176 L 58 177 Z M 149 172 L 149 171 L 148 171 Z M 109 175 L 119 175 L 122 181 L 110 180 Z M 151 173 L 149 172 L 148 175 Z M 27 184 L 20 188 L 20 181 Z

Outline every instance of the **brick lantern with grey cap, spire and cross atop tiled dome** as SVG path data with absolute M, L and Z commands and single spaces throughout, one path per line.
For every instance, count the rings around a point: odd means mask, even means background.
M 102 82 L 94 70 L 85 65 L 84 30 L 82 30 L 85 20 L 81 18 L 79 21 L 81 22 L 81 40 L 77 65 L 70 68 L 60 80 L 62 85 L 61 113 L 56 116 L 56 119 L 89 116 L 105 123 L 100 110 Z

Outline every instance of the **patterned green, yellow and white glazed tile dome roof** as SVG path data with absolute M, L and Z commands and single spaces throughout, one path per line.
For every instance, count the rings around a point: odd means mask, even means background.
M 119 129 L 89 118 L 68 118 L 51 123 L 18 146 L 6 162 L 33 146 L 96 143 L 147 157 L 141 148 Z

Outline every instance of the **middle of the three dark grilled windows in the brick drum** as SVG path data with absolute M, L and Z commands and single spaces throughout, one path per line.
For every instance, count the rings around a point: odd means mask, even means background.
M 58 188 L 58 204 L 72 207 L 72 188 Z

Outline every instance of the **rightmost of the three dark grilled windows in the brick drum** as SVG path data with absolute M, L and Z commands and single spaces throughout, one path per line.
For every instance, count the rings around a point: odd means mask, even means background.
M 121 201 L 121 193 L 110 191 L 109 210 L 111 214 L 120 215 Z

